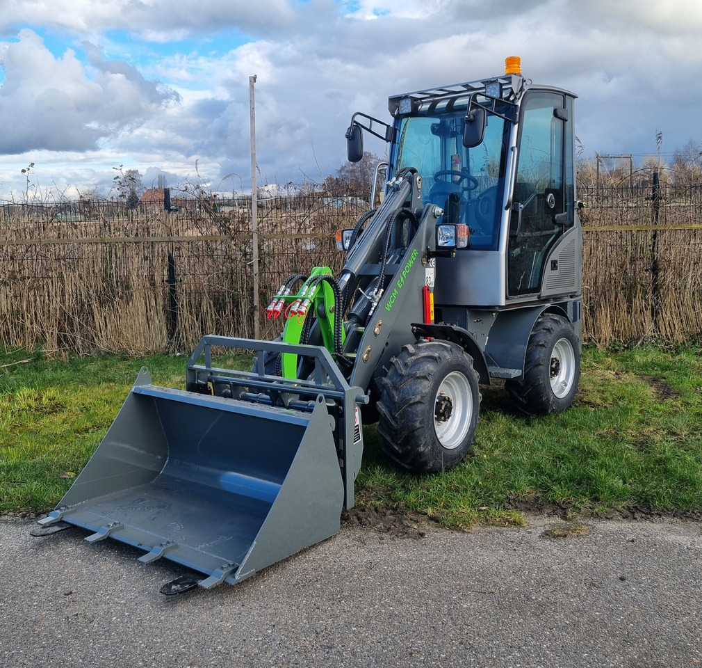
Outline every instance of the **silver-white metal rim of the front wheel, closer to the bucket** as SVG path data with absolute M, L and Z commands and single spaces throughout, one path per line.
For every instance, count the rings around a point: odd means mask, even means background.
M 468 435 L 473 416 L 473 395 L 468 378 L 458 371 L 449 373 L 439 386 L 434 405 L 437 438 L 444 448 L 453 450 Z M 439 412 L 445 418 L 439 419 Z

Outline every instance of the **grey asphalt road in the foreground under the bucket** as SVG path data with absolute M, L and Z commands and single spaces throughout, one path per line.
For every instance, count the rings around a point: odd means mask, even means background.
M 0 518 L 3 667 L 702 665 L 702 525 L 557 518 L 421 538 L 345 525 L 237 586 Z

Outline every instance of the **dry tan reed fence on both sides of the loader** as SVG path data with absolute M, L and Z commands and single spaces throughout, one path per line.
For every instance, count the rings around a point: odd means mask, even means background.
M 680 343 L 702 333 L 702 186 L 581 193 L 585 338 Z M 48 354 L 189 352 L 201 335 L 274 338 L 282 280 L 338 270 L 334 233 L 362 214 L 324 195 L 263 200 L 260 313 L 253 312 L 250 200 L 178 211 L 123 203 L 0 208 L 0 342 Z

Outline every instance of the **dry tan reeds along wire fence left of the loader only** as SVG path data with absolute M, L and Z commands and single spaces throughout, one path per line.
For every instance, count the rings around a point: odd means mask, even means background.
M 319 198 L 260 206 L 260 300 L 311 266 L 338 269 L 334 232 L 359 210 Z M 0 341 L 48 354 L 190 351 L 202 335 L 253 336 L 250 208 L 68 217 L 59 207 L 0 210 Z M 169 258 L 175 281 L 168 283 Z M 171 308 L 171 293 L 176 309 Z M 265 304 L 261 304 L 262 311 Z M 260 332 L 277 335 L 260 317 Z

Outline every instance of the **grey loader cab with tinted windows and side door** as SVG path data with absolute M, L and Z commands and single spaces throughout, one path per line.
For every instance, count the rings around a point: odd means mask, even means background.
M 390 98 L 390 177 L 416 167 L 423 203 L 470 231 L 458 257 L 437 259 L 437 303 L 504 307 L 579 292 L 579 236 L 563 257 L 561 248 L 577 221 L 573 100 L 520 76 Z M 476 108 L 477 145 L 465 140 L 476 136 L 466 131 Z

